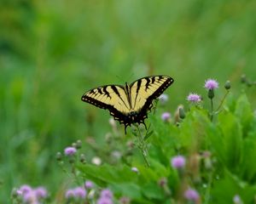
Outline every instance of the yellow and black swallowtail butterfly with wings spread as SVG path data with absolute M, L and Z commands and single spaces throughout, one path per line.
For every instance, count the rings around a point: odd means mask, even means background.
M 153 100 L 157 99 L 173 82 L 172 77 L 150 76 L 125 86 L 106 85 L 92 88 L 82 96 L 84 102 L 108 109 L 114 120 L 126 127 L 132 123 L 144 123 Z M 146 125 L 145 125 L 146 127 Z

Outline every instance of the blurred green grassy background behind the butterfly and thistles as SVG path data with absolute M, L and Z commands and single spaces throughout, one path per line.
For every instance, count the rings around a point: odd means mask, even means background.
M 90 88 L 166 74 L 172 112 L 208 77 L 240 92 L 241 74 L 256 76 L 255 9 L 253 0 L 1 0 L 0 202 L 24 183 L 55 194 L 65 182 L 55 152 L 102 141 L 109 115 L 80 100 Z

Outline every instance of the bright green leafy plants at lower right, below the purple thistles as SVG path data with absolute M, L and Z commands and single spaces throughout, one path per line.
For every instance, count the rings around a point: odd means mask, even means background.
M 232 110 L 232 111 L 228 111 Z M 241 110 L 244 110 L 241 112 Z M 150 167 L 140 163 L 101 167 L 81 165 L 80 171 L 102 187 L 108 186 L 117 197 L 125 195 L 132 203 L 164 203 L 178 194 L 181 186 L 197 188 L 204 203 L 228 203 L 239 195 L 244 203 L 252 203 L 256 194 L 256 169 L 253 158 L 256 156 L 255 116 L 245 94 L 236 101 L 236 109 L 226 106 L 212 123 L 207 111 L 192 107 L 178 126 L 162 122 L 158 114 L 150 117 L 154 133 L 149 138 L 148 154 Z M 250 124 L 250 125 L 247 125 Z M 244 131 L 246 128 L 246 131 Z M 212 167 L 207 169 L 200 152 L 212 152 Z M 183 174 L 170 165 L 172 156 L 182 154 L 187 157 L 187 167 Z M 191 158 L 201 157 L 198 172 L 195 172 Z M 131 171 L 132 165 L 138 173 Z M 195 177 L 197 178 L 195 179 Z M 169 195 L 160 186 L 160 179 L 167 178 Z M 202 186 L 207 184 L 207 190 Z M 207 191 L 209 196 L 207 197 Z M 183 198 L 179 198 L 183 200 Z

